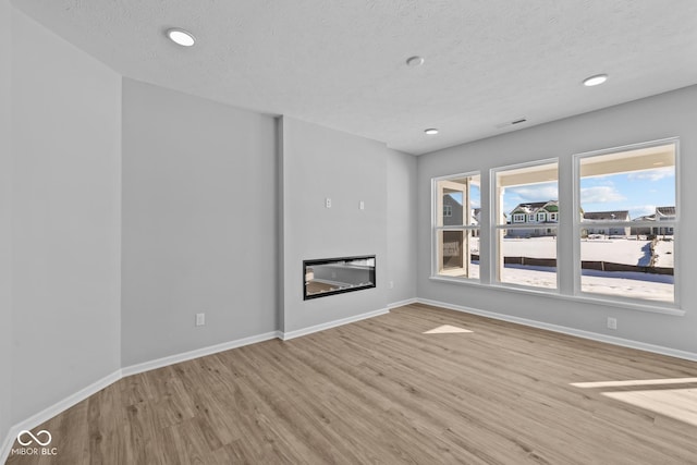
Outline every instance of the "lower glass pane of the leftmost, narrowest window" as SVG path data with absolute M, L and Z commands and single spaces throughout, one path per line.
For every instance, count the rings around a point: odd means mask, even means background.
M 479 278 L 478 229 L 438 232 L 438 274 Z

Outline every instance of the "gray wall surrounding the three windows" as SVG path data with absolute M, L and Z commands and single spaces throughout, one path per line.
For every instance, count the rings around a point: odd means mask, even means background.
M 697 242 L 689 240 L 697 234 L 697 184 L 692 174 L 697 172 L 697 86 L 636 100 L 604 110 L 568 118 L 549 124 L 517 131 L 472 144 L 452 147 L 418 158 L 418 296 L 449 304 L 494 311 L 540 322 L 560 325 L 579 330 L 629 339 L 675 350 L 697 353 L 697 287 L 695 270 L 688 262 L 697 256 Z M 560 180 L 570 180 L 572 155 L 595 149 L 681 137 L 682 192 L 681 237 L 678 257 L 682 276 L 678 277 L 680 301 L 686 315 L 683 317 L 659 315 L 639 310 L 584 304 L 566 299 L 522 294 L 487 286 L 458 285 L 429 280 L 430 273 L 430 180 L 452 173 L 481 170 L 482 216 L 490 207 L 488 170 L 491 168 L 560 158 Z M 573 186 L 560 182 L 560 203 L 571 205 Z M 560 224 L 560 264 L 568 264 L 572 244 L 571 209 L 562 209 Z M 486 218 L 485 218 L 486 221 Z M 564 242 L 564 243 L 562 243 Z M 481 249 L 490 247 L 487 234 L 482 234 Z M 488 264 L 481 265 L 482 276 L 488 276 Z M 573 289 L 573 278 L 560 276 L 561 287 Z M 617 318 L 619 329 L 606 328 L 607 317 Z

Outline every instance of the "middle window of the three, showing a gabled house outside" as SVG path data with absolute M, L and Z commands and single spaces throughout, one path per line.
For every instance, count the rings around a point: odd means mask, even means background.
M 503 284 L 557 289 L 557 227 L 545 211 L 527 213 L 528 223 L 506 224 L 509 212 L 559 210 L 558 162 L 543 161 L 492 172 L 496 201 L 496 279 Z M 514 222 L 515 215 L 514 215 Z

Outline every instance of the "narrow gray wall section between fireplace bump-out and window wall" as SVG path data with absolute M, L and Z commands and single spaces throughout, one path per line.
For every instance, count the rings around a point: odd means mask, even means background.
M 389 304 L 416 297 L 416 160 L 399 151 L 390 151 L 387 157 Z

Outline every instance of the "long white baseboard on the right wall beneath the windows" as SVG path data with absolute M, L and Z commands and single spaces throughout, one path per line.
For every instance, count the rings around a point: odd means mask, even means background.
M 462 305 L 449 304 L 445 302 L 431 301 L 428 298 L 417 298 L 417 303 L 425 305 L 432 305 L 436 307 L 448 308 L 450 310 L 463 311 L 466 314 L 479 315 L 482 317 L 493 318 L 497 320 L 509 321 L 513 323 L 529 326 L 533 328 L 546 329 L 549 331 L 561 332 L 563 334 L 575 335 L 578 338 L 589 339 L 598 342 L 606 342 L 608 344 L 621 345 L 623 347 L 638 348 L 639 351 L 652 352 L 655 354 L 668 355 L 676 358 L 684 358 L 686 360 L 697 362 L 697 354 L 693 352 L 678 351 L 676 348 L 664 347 L 662 345 L 647 344 L 645 342 L 633 341 L 631 339 L 615 338 L 612 335 L 600 334 L 591 331 L 584 331 L 579 329 L 563 327 L 559 325 L 551 325 L 541 321 L 530 320 L 527 318 L 514 317 L 511 315 L 497 314 L 493 311 L 480 310 L 477 308 L 465 307 Z

